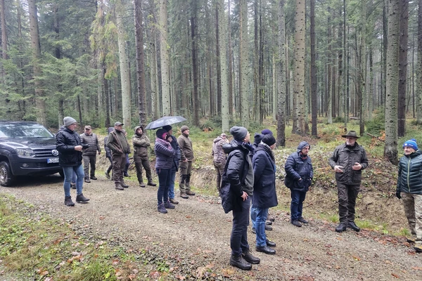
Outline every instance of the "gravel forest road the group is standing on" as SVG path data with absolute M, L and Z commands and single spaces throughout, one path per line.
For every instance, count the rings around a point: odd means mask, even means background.
M 130 188 L 119 191 L 99 176 L 98 181 L 84 183 L 89 204 L 75 207 L 63 204 L 63 182 L 58 176 L 31 178 L 16 188 L 0 187 L 0 192 L 71 223 L 77 233 L 91 240 L 165 256 L 174 268 L 172 274 L 186 279 L 214 273 L 220 280 L 422 280 L 422 254 L 415 254 L 403 239 L 365 230 L 338 234 L 333 224 L 315 220 L 297 228 L 286 214 L 275 214 L 274 230 L 267 232 L 277 243 L 276 255 L 255 252 L 255 235 L 249 231 L 252 253 L 261 263 L 248 272 L 238 270 L 229 266 L 231 213 L 224 214 L 218 198 L 178 197 L 176 209 L 160 214 L 156 187 L 128 183 Z

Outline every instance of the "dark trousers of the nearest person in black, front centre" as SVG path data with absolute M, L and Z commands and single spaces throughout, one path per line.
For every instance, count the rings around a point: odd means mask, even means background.
M 233 210 L 233 228 L 231 229 L 230 247 L 231 254 L 236 256 L 249 249 L 248 226 L 249 226 L 250 196 L 241 202 L 241 208 Z

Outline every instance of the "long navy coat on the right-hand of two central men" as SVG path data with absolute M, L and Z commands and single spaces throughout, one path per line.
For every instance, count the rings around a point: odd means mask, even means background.
M 277 206 L 276 163 L 268 145 L 265 143 L 258 145 L 252 165 L 254 175 L 252 205 L 261 209 Z

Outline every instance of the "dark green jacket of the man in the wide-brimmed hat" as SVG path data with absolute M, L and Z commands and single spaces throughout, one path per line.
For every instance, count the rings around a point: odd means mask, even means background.
M 359 171 L 352 169 L 356 162 L 362 165 L 362 169 Z M 335 148 L 333 155 L 328 159 L 328 164 L 333 169 L 336 165 L 343 166 L 343 173 L 335 173 L 335 180 L 338 183 L 360 185 L 362 182 L 362 171 L 368 166 L 368 158 L 362 145 L 357 142 L 354 143 L 354 146 L 343 143 Z

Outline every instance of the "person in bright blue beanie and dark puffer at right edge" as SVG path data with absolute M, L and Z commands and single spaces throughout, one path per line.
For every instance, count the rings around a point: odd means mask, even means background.
M 403 144 L 396 196 L 402 199 L 411 235 L 422 247 L 422 152 L 412 138 Z M 421 248 L 422 249 L 422 248 Z

